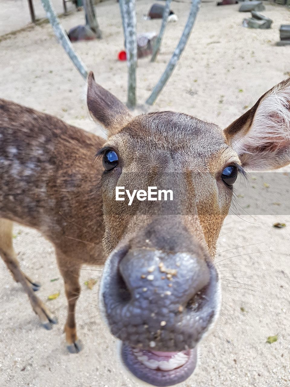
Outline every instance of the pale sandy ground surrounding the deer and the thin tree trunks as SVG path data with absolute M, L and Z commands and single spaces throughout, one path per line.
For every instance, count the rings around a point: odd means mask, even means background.
M 159 21 L 142 20 L 150 4 L 145 0 L 137 3 L 139 32 L 159 29 Z M 203 3 L 186 51 L 154 110 L 183 111 L 225 127 L 287 77 L 290 47 L 276 47 L 275 42 L 280 24 L 290 23 L 290 12 L 265 4 L 263 14 L 274 20 L 273 28 L 256 31 L 241 27 L 247 14 L 237 12 L 238 5 Z M 189 4 L 172 2 L 172 9 L 179 22 L 168 25 L 157 62 L 139 61 L 140 104 L 165 68 L 183 30 Z M 114 1 L 101 3 L 97 14 L 104 39 L 77 43 L 75 48 L 94 70 L 97 81 L 125 101 L 126 64 L 116 61 L 123 48 L 118 5 Z M 63 19 L 63 24 L 68 29 L 82 21 L 83 15 L 75 13 Z M 1 97 L 99 134 L 100 129 L 88 117 L 83 95 L 84 82 L 49 25 L 0 42 Z M 254 184 L 262 182 L 250 179 L 252 197 Z M 221 317 L 215 332 L 200 347 L 197 372 L 182 387 L 290 385 L 290 214 L 276 213 L 274 204 L 272 215 L 268 209 L 258 211 L 255 205 L 269 200 L 270 195 L 266 187 L 259 188 L 248 210 L 251 215 L 231 213 L 223 226 L 217 255 L 217 261 L 226 259 L 218 264 L 223 281 Z M 282 191 L 280 201 L 287 202 L 289 191 L 277 188 Z M 247 193 L 241 200 L 247 206 Z M 276 221 L 287 227 L 273 228 Z M 66 315 L 63 282 L 50 282 L 60 277 L 53 247 L 34 230 L 15 226 L 14 232 L 22 269 L 43 285 L 38 293 L 41 299 L 61 292 L 58 299 L 46 301 L 59 324 L 51 331 L 39 325 L 26 295 L 0 262 L 0 385 L 136 387 L 121 370 L 116 341 L 104 327 L 97 306 L 92 305 L 97 304 L 98 286 L 89 290 L 84 285 L 90 277 L 99 281 L 101 272 L 82 272 L 77 323 L 84 349 L 70 355 L 62 334 Z M 267 337 L 275 334 L 278 341 L 267 344 Z

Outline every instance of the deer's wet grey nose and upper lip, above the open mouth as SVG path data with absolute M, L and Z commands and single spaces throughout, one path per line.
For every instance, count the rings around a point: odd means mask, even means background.
M 106 264 L 101 301 L 114 336 L 156 351 L 194 348 L 216 313 L 217 272 L 194 253 L 123 248 Z

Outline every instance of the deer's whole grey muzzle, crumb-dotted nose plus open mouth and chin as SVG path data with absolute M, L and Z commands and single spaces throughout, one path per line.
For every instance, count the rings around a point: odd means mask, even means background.
M 220 290 L 200 246 L 169 252 L 156 245 L 119 243 L 107 259 L 100 296 L 126 368 L 162 387 L 193 373 L 197 346 L 217 319 Z

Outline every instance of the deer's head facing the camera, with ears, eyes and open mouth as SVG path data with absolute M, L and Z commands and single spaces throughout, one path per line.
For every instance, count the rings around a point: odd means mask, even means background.
M 132 118 L 89 77 L 89 109 L 113 133 L 98 152 L 104 164 L 104 248 L 109 254 L 100 300 L 112 334 L 122 342 L 123 363 L 149 384 L 168 386 L 188 378 L 198 344 L 217 320 L 220 285 L 213 258 L 233 184 L 247 166 L 241 159 L 255 163 L 251 149 L 258 147 L 261 158 L 273 149 L 275 165 L 290 162 L 287 135 L 272 135 L 276 146 L 266 151 L 261 138 L 246 137 L 261 119 L 255 114 L 263 98 L 243 125 L 234 123 L 224 134 L 181 113 Z M 241 131 L 246 132 L 239 148 L 244 153 L 238 154 L 235 136 Z M 270 144 L 270 135 L 264 138 Z M 266 153 L 259 165 L 268 159 Z M 116 187 L 143 190 L 143 200 L 117 201 Z M 148 187 L 171 190 L 172 200 L 147 200 Z

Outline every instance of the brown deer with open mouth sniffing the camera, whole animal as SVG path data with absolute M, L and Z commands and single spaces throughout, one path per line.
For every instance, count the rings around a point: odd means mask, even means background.
M 53 243 L 72 353 L 82 348 L 80 268 L 102 265 L 100 310 L 126 370 L 150 385 L 178 384 L 196 369 L 218 319 L 214 258 L 237 177 L 290 163 L 290 78 L 224 130 L 172 111 L 133 116 L 92 72 L 87 106 L 107 140 L 0 100 L 0 255 L 50 329 L 57 319 L 19 267 L 12 224 Z M 170 188 L 173 200 L 116 200 L 116 187 L 149 186 Z

